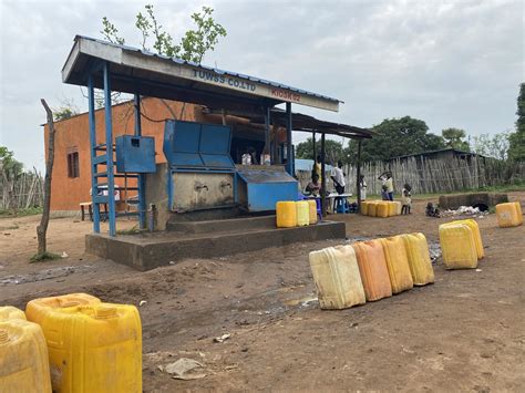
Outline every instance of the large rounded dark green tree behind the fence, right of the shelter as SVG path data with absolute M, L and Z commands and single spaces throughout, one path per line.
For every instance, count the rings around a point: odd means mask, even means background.
M 390 158 L 435 151 L 445 146 L 441 136 L 430 134 L 422 120 L 404 116 L 385 118 L 372 127 L 371 139 L 362 141 L 361 161 L 388 161 Z M 351 139 L 346 149 L 347 161 L 356 163 L 358 143 Z

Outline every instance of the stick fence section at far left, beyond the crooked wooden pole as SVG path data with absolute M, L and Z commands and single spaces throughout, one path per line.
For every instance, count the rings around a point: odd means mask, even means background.
M 27 209 L 43 205 L 43 178 L 37 169 L 10 178 L 0 170 L 0 210 Z

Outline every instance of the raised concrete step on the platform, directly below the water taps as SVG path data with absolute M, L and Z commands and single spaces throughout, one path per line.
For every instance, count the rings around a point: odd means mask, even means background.
M 276 216 L 244 217 L 207 221 L 171 221 L 166 230 L 182 234 L 217 234 L 254 229 L 274 229 Z

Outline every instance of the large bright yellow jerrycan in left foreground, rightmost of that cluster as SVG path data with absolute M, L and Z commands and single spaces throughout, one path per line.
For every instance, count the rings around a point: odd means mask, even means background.
M 42 327 L 53 391 L 142 392 L 142 327 L 134 306 L 41 304 L 30 301 L 25 314 Z

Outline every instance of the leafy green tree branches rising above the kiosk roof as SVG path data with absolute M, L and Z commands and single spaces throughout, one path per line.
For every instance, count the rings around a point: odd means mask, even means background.
M 200 64 L 204 55 L 215 50 L 219 38 L 227 34 L 226 29 L 214 20 L 214 9 L 203 7 L 200 12 L 192 14 L 195 29 L 186 31 L 176 44 L 173 35 L 165 31 L 156 19 L 153 6 L 146 4 L 144 8 L 146 12 L 138 12 L 135 17 L 135 28 L 141 32 L 141 46 L 144 50 L 151 50 L 147 42 L 153 38 L 153 49 L 156 53 Z M 101 33 L 110 42 L 125 43 L 124 38 L 119 35 L 119 29 L 106 17 L 102 19 Z

